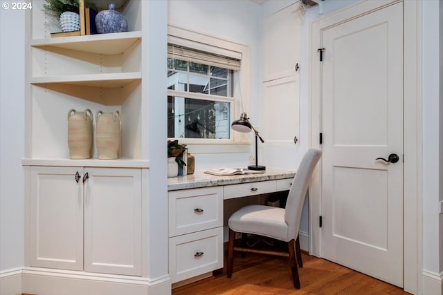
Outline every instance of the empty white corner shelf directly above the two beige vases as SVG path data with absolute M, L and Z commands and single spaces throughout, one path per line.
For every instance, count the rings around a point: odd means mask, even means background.
M 33 77 L 30 83 L 37 86 L 69 84 L 100 88 L 120 88 L 137 80 L 141 80 L 141 72 Z

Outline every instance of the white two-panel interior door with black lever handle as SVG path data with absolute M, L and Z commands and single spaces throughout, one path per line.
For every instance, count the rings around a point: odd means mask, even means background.
M 403 286 L 403 4 L 322 32 L 322 256 Z M 384 162 L 395 153 L 399 161 Z

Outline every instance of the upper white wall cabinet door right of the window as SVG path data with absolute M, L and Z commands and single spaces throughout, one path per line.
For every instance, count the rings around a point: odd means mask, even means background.
M 296 73 L 300 58 L 300 4 L 295 3 L 264 19 L 264 81 Z

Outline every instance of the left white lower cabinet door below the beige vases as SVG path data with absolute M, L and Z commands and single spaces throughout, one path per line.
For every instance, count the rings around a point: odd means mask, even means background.
M 83 269 L 82 175 L 78 167 L 30 167 L 30 266 Z

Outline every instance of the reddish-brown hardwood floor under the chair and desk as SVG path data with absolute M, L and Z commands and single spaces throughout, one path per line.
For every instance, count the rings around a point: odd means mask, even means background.
M 381 280 L 305 253 L 302 253 L 303 267 L 298 269 L 301 289 L 295 289 L 287 258 L 253 253 L 242 258 L 238 252 L 234 255 L 232 278 L 226 278 L 225 267 L 214 272 L 211 278 L 173 289 L 172 295 L 409 294 Z

